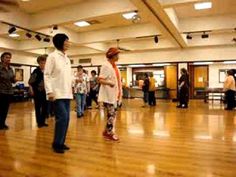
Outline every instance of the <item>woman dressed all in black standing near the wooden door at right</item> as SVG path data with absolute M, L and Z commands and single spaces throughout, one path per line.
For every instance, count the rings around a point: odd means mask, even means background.
M 185 68 L 181 69 L 179 79 L 179 105 L 177 108 L 188 108 L 189 101 L 189 76 Z

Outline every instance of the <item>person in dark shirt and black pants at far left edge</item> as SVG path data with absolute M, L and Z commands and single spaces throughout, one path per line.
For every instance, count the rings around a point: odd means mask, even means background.
M 6 118 L 10 106 L 10 99 L 13 95 L 12 83 L 16 82 L 13 69 L 10 67 L 11 53 L 4 52 L 1 55 L 0 63 L 0 130 L 9 129 L 6 125 Z

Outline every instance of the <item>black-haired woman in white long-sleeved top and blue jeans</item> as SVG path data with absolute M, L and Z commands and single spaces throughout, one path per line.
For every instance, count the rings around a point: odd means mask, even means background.
M 69 38 L 59 33 L 53 37 L 55 51 L 49 54 L 44 71 L 47 98 L 54 101 L 55 130 L 52 148 L 56 153 L 64 153 L 70 148 L 65 145 L 70 120 L 70 100 L 72 95 L 71 63 L 66 55 Z

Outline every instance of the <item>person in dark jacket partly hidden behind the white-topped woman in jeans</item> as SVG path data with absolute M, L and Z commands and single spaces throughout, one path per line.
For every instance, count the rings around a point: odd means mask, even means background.
M 41 55 L 37 58 L 39 66 L 33 71 L 29 79 L 31 94 L 34 97 L 36 121 L 39 128 L 48 126 L 45 123 L 47 116 L 47 100 L 43 78 L 46 59 L 47 55 Z

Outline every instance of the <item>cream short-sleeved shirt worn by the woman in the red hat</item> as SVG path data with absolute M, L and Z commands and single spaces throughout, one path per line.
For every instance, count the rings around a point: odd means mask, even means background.
M 101 78 L 105 79 L 106 81 L 114 83 L 115 86 L 111 87 L 109 85 L 101 84 L 98 94 L 98 102 L 104 102 L 115 105 L 117 101 L 121 101 L 118 100 L 118 94 L 119 94 L 118 82 L 120 82 L 121 84 L 121 81 L 117 80 L 115 70 L 112 67 L 111 63 L 108 61 L 106 61 L 101 67 L 101 72 L 98 79 Z M 120 90 L 120 93 L 122 94 L 122 88 Z

